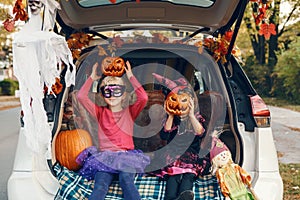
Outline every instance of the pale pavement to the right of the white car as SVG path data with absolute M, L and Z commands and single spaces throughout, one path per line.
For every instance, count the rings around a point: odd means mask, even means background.
M 300 163 L 300 112 L 269 106 L 271 127 L 281 163 Z

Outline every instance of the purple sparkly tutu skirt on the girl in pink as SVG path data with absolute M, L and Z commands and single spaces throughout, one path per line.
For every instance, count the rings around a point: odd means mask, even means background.
M 82 151 L 76 162 L 82 166 L 79 174 L 92 180 L 98 171 L 144 173 L 145 167 L 150 164 L 150 158 L 141 150 L 100 152 L 92 146 Z

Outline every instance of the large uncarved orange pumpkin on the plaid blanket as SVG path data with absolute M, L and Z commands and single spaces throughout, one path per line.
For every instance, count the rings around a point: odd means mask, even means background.
M 76 157 L 90 146 L 92 137 L 87 131 L 83 129 L 61 131 L 55 139 L 56 160 L 69 170 L 76 171 L 80 168 L 76 163 Z

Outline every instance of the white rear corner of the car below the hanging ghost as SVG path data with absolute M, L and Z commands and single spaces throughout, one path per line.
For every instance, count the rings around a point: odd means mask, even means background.
M 39 158 L 26 145 L 20 129 L 14 167 L 7 183 L 9 200 L 52 200 L 59 183 L 51 174 L 45 158 Z

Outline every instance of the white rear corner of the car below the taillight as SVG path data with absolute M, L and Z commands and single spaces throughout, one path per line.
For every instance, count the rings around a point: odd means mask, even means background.
M 283 182 L 271 127 L 257 128 L 254 132 L 245 132 L 243 124 L 239 127 L 244 133 L 243 168 L 251 174 L 255 193 L 260 200 L 282 200 Z

